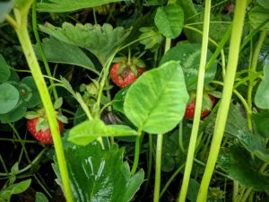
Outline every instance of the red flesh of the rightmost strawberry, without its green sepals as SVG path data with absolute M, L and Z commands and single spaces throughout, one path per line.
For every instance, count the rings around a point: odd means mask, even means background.
M 210 103 L 210 106 L 205 106 L 204 108 L 202 106 L 201 119 L 203 119 L 209 114 L 209 112 L 212 110 L 213 105 L 216 101 L 213 95 L 205 95 L 204 97 L 207 100 L 209 99 L 211 103 Z M 194 119 L 194 117 L 195 117 L 195 98 L 187 103 L 187 107 L 186 107 L 185 115 L 184 115 L 185 119 Z

